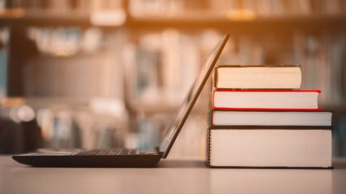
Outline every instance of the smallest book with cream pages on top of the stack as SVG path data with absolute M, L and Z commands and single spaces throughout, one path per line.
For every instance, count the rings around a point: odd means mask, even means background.
M 301 87 L 301 65 L 220 65 L 216 89 L 293 89 Z

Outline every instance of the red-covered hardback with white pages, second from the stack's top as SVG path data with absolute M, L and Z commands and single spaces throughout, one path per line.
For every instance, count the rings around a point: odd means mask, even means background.
M 214 90 L 212 105 L 223 110 L 322 110 L 319 90 Z

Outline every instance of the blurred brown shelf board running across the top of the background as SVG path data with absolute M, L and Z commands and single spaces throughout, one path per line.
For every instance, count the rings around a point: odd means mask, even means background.
M 124 11 L 122 11 L 124 12 Z M 124 14 L 126 14 L 124 12 Z M 49 11 L 6 10 L 0 13 L 0 26 L 64 26 L 116 29 L 127 27 L 135 30 L 179 28 L 199 30 L 213 28 L 230 33 L 292 32 L 295 30 L 345 30 L 346 15 L 274 15 L 244 18 L 227 18 L 224 14 L 206 11 L 190 11 L 173 15 L 145 15 L 125 17 L 122 25 L 97 26 L 90 21 L 90 14 L 81 12 L 52 13 Z

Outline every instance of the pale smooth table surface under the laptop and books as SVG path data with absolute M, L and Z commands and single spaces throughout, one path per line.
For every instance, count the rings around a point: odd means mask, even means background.
M 346 159 L 333 170 L 209 169 L 203 160 L 155 168 L 36 168 L 0 156 L 0 194 L 346 194 Z

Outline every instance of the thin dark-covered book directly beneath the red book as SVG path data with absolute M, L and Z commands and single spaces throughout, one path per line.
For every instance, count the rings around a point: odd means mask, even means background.
M 217 110 L 211 113 L 213 126 L 331 126 L 327 111 L 240 111 Z

